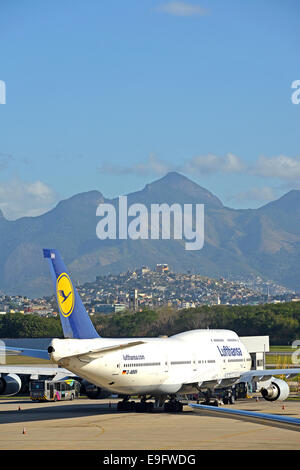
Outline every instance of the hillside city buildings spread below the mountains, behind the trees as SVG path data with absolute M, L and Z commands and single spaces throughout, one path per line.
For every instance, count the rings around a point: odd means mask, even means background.
M 174 273 L 167 264 L 154 270 L 143 266 L 121 274 L 97 276 L 94 282 L 77 286 L 90 315 L 137 312 L 144 308 L 196 308 L 201 305 L 257 305 L 300 301 L 295 292 L 258 276 L 246 279 L 210 279 L 200 274 Z M 30 299 L 0 295 L 0 314 L 56 316 L 56 298 Z

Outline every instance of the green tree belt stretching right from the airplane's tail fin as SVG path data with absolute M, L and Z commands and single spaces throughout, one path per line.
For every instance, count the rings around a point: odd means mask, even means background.
M 186 310 L 160 308 L 156 312 L 95 315 L 94 324 L 103 336 L 172 335 L 197 328 L 236 331 L 239 336 L 268 335 L 270 343 L 286 345 L 300 338 L 300 303 L 257 306 L 203 306 Z

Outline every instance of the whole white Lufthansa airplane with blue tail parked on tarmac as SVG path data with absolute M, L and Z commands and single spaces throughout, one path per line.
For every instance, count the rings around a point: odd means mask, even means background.
M 250 354 L 234 331 L 198 329 L 158 338 L 101 337 L 59 251 L 44 249 L 43 253 L 64 338 L 52 339 L 48 351 L 23 348 L 20 354 L 48 358 L 100 390 L 122 396 L 119 411 L 151 412 L 154 407 L 163 407 L 166 412 L 181 412 L 180 396 L 197 393 L 206 405 L 218 405 L 218 400 L 212 400 L 220 390 L 224 404 L 232 404 L 232 387 L 252 381 L 262 384 L 260 392 L 267 401 L 288 397 L 288 384 L 274 375 L 294 376 L 300 368 L 251 370 Z M 130 401 L 132 396 L 139 396 L 140 402 Z

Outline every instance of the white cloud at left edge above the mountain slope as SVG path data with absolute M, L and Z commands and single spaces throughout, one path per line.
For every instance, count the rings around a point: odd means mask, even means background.
M 14 179 L 0 183 L 0 209 L 8 220 L 41 215 L 57 202 L 55 191 L 42 181 Z

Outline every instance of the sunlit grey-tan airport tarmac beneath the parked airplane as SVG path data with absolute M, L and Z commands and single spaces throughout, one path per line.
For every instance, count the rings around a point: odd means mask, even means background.
M 118 412 L 116 399 L 62 402 L 0 399 L 1 450 L 299 450 L 300 426 L 182 413 Z M 300 401 L 238 400 L 231 409 L 300 417 Z

